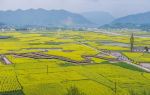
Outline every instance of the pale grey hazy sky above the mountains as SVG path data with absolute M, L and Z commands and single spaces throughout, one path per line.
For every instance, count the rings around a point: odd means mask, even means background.
M 0 10 L 66 9 L 72 12 L 106 11 L 119 17 L 150 11 L 150 0 L 0 0 Z

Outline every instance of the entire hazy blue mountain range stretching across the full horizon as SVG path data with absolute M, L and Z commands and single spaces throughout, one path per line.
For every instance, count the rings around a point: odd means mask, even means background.
M 106 24 L 106 25 L 105 25 Z M 150 29 L 150 12 L 115 19 L 107 12 L 81 14 L 66 10 L 28 9 L 0 11 L 0 26 L 100 27 Z

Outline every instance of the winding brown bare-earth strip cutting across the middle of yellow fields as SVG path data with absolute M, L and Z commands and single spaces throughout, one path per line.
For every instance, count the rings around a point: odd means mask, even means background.
M 71 62 L 71 63 L 75 63 L 75 64 L 92 64 L 92 58 L 101 58 L 101 59 L 105 59 L 108 61 L 117 61 L 116 59 L 111 59 L 111 58 L 105 58 L 103 56 L 99 56 L 99 54 L 97 55 L 93 55 L 93 56 L 87 56 L 87 55 L 83 55 L 82 58 L 84 58 L 84 60 L 73 60 L 70 58 L 66 58 L 66 57 L 62 57 L 62 56 L 55 56 L 55 55 L 49 55 L 49 54 L 45 54 L 43 52 L 32 52 L 32 53 L 11 53 L 9 55 L 13 55 L 15 57 L 27 57 L 27 58 L 34 58 L 34 59 L 59 59 L 62 61 L 66 61 L 66 62 Z

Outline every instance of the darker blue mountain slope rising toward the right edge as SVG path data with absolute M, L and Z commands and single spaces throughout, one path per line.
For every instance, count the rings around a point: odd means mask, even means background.
M 132 28 L 150 30 L 150 12 L 128 15 L 115 19 L 110 24 L 102 26 L 102 28 Z

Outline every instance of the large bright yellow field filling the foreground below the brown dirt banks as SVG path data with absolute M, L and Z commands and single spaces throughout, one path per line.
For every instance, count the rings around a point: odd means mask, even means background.
M 27 95 L 33 93 L 35 95 L 38 95 L 38 93 L 62 95 L 72 85 L 77 86 L 87 95 L 98 93 L 113 95 L 116 90 L 116 93 L 122 95 L 128 93 L 130 89 L 143 93 L 143 90 L 150 87 L 147 84 L 150 80 L 145 78 L 149 76 L 148 73 L 143 73 L 143 77 L 142 72 L 122 68 L 107 62 L 80 66 L 48 59 L 17 58 L 14 61 L 18 79 L 24 87 L 24 93 Z M 122 75 L 122 73 L 124 74 Z M 117 88 L 115 88 L 115 83 Z

